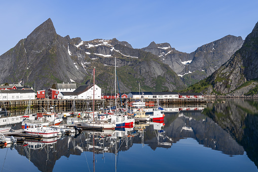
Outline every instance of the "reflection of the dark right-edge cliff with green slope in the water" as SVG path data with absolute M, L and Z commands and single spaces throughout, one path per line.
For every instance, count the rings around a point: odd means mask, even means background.
M 203 114 L 231 133 L 258 166 L 258 100 L 227 99 L 226 104 L 208 104 Z

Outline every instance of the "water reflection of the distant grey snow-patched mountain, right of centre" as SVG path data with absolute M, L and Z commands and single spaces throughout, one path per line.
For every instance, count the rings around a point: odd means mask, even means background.
M 164 139 L 171 144 L 180 139 L 191 137 L 205 147 L 222 151 L 228 155 L 243 155 L 244 149 L 231 135 L 212 119 L 201 114 L 201 111 L 166 113 Z M 146 134 L 148 135 L 148 134 Z M 157 145 L 157 140 L 146 140 L 152 149 L 156 147 L 168 147 Z

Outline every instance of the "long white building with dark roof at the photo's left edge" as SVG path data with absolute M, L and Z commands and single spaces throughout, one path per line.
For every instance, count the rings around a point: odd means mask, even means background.
M 35 92 L 27 90 L 1 90 L 0 100 L 29 100 L 35 99 Z

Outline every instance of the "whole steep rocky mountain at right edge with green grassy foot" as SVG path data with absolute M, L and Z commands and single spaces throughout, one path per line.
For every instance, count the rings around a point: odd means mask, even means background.
M 242 47 L 218 68 L 210 77 L 190 87 L 187 91 L 203 91 L 205 94 L 248 93 L 258 87 L 258 22 L 246 37 Z M 242 91 L 242 87 L 245 91 Z M 235 94 L 233 94 L 235 95 Z M 237 94 L 238 95 L 238 94 Z M 241 94 L 240 94 L 241 95 Z

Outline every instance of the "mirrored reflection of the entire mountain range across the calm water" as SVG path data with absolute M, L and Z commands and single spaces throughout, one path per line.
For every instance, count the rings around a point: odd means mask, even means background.
M 133 144 L 150 146 L 153 150 L 170 148 L 179 140 L 191 137 L 205 147 L 228 155 L 243 155 L 246 151 L 257 165 L 257 105 L 254 100 L 227 100 L 226 104 L 208 104 L 204 111 L 166 113 L 164 127 L 162 123 L 141 124 L 137 126 L 138 129 L 117 137 L 119 150 L 129 150 Z M 115 154 L 115 141 L 110 135 L 95 134 L 96 154 Z M 39 170 L 52 171 L 55 162 L 62 156 L 68 158 L 70 155 L 81 155 L 84 151 L 93 152 L 92 143 L 92 133 L 82 133 L 77 137 L 66 136 L 62 140 L 58 139 L 57 143 L 49 145 L 49 152 L 45 148 L 31 150 L 29 157 L 26 148 L 17 146 L 16 149 Z

